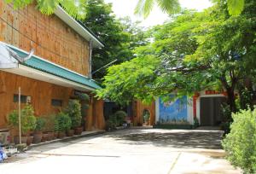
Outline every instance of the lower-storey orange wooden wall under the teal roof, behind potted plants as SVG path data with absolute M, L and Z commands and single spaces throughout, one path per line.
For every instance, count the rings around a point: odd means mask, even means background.
M 31 104 L 37 116 L 58 113 L 62 107 L 67 106 L 68 99 L 73 95 L 73 89 L 13 73 L 0 71 L 0 78 L 0 128 L 8 125 L 7 118 L 9 113 L 18 108 L 18 103 L 14 102 L 14 94 L 18 94 L 19 87 L 21 88 L 21 95 L 32 96 Z M 3 90 L 3 82 L 5 90 Z M 51 106 L 51 99 L 63 101 L 62 107 Z M 24 107 L 24 105 L 22 104 L 21 107 Z

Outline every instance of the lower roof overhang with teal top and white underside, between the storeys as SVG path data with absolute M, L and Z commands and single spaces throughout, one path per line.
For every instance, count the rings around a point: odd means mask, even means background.
M 75 90 L 101 89 L 93 79 L 3 42 L 0 42 L 0 70 Z

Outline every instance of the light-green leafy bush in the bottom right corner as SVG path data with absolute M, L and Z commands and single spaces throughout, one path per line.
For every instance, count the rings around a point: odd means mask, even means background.
M 256 108 L 233 113 L 230 133 L 222 142 L 232 165 L 256 173 Z

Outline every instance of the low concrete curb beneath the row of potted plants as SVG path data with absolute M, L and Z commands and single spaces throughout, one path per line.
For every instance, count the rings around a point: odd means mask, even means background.
M 63 142 L 63 141 L 67 141 L 67 140 L 75 140 L 81 137 L 87 137 L 87 136 L 96 136 L 96 135 L 100 135 L 100 134 L 104 134 L 106 131 L 91 131 L 91 132 L 86 132 L 84 131 L 81 135 L 75 135 L 75 136 L 65 136 L 64 138 L 61 139 L 55 139 L 55 140 L 51 140 L 48 142 L 40 142 L 38 144 L 31 144 L 30 146 L 27 147 L 27 150 L 32 149 L 32 148 L 37 148 L 39 146 L 43 146 L 43 145 L 47 145 L 50 143 L 54 143 L 54 142 Z

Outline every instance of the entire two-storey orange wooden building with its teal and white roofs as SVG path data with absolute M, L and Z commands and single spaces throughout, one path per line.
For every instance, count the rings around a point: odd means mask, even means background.
M 46 16 L 35 5 L 15 10 L 0 0 L 0 41 L 0 129 L 18 107 L 19 87 L 22 105 L 30 102 L 36 116 L 59 112 L 75 91 L 87 93 L 86 130 L 104 129 L 103 102 L 92 95 L 100 87 L 90 79 L 91 50 L 103 44 L 86 26 L 61 7 Z M 32 50 L 27 61 L 15 60 Z

